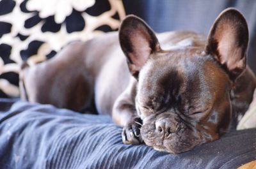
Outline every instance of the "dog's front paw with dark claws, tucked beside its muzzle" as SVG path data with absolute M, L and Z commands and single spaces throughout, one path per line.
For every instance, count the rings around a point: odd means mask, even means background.
M 140 135 L 140 129 L 142 126 L 142 120 L 140 118 L 135 118 L 133 121 L 129 122 L 123 128 L 122 140 L 125 144 L 140 144 L 143 140 Z

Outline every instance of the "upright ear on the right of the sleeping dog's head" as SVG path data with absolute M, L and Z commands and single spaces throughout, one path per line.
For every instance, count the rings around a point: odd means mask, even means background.
M 223 66 L 231 80 L 236 80 L 246 68 L 247 47 L 245 18 L 234 8 L 224 10 L 211 27 L 205 52 Z

